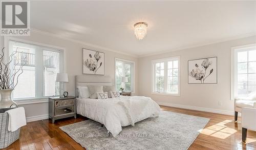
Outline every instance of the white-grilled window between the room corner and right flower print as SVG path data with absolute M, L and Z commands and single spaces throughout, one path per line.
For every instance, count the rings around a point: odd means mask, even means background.
M 180 57 L 152 61 L 153 93 L 180 95 Z

